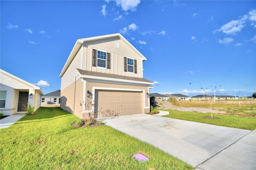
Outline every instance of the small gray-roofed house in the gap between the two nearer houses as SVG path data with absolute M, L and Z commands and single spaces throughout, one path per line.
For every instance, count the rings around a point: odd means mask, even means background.
M 49 106 L 60 106 L 60 90 L 56 90 L 41 97 L 41 107 Z

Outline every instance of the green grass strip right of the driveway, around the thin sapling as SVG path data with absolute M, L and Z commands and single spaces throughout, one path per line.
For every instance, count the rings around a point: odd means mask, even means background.
M 193 121 L 200 123 L 207 123 L 211 125 L 218 125 L 223 127 L 241 128 L 247 130 L 256 129 L 256 117 L 241 117 L 234 115 L 220 115 L 213 114 L 214 118 L 219 119 L 206 119 L 204 117 L 210 117 L 210 113 L 196 113 L 196 112 L 184 112 L 184 111 L 169 111 L 169 115 L 164 117 L 170 117 L 174 119 L 181 119 L 185 121 Z

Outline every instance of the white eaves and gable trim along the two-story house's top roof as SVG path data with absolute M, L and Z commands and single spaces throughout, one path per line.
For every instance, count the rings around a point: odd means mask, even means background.
M 79 51 L 79 49 L 82 47 L 83 43 L 86 42 L 92 42 L 92 41 L 100 41 L 100 40 L 104 40 L 107 38 L 114 38 L 114 37 L 118 37 L 120 38 L 120 40 L 122 40 L 126 45 L 128 45 L 130 47 L 130 49 L 132 49 L 132 51 L 134 51 L 139 57 L 141 57 L 142 61 L 146 61 L 146 57 L 144 57 L 144 55 L 142 55 L 140 53 L 140 51 L 138 51 L 130 42 L 128 42 L 120 33 L 116 33 L 116 34 L 108 34 L 108 35 L 104 35 L 104 36 L 96 36 L 96 37 L 90 37 L 90 38 L 82 38 L 82 39 L 78 39 L 60 73 L 59 77 L 62 77 L 66 71 L 66 69 L 68 69 L 70 63 L 72 62 L 72 60 L 74 59 L 74 57 L 76 56 L 76 53 Z

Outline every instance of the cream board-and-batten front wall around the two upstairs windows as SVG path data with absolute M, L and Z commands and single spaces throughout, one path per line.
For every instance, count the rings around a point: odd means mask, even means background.
M 119 47 L 116 47 L 116 43 L 119 43 Z M 107 38 L 104 40 L 86 42 L 83 46 L 84 53 L 82 69 L 87 71 L 96 71 L 100 73 L 143 78 L 142 58 L 139 57 L 128 45 L 126 45 L 126 43 L 124 43 L 119 38 Z M 110 69 L 102 69 L 100 67 L 92 66 L 93 49 L 99 49 L 110 53 Z M 129 73 L 124 71 L 124 57 L 130 57 L 137 60 L 137 73 Z

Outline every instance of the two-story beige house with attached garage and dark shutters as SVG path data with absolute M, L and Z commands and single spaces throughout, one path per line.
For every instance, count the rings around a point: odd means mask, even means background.
M 78 39 L 60 73 L 60 107 L 80 118 L 150 112 L 143 61 L 119 33 Z

